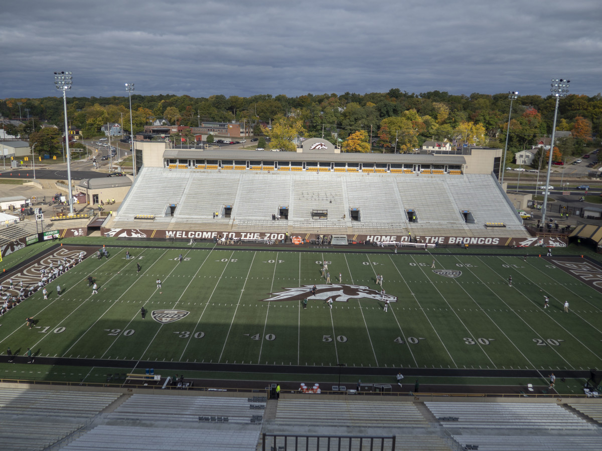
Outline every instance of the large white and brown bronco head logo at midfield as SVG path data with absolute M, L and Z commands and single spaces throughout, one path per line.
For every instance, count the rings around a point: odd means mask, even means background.
M 380 301 L 382 295 L 379 291 L 370 289 L 361 285 L 316 285 L 315 296 L 312 296 L 312 285 L 303 285 L 298 288 L 284 288 L 285 291 L 270 293 L 272 298 L 261 299 L 262 301 L 300 301 L 305 298 L 321 299 L 326 301 L 332 298 L 333 301 L 347 302 L 349 299 L 376 299 Z M 397 302 L 397 296 L 385 295 L 385 300 Z

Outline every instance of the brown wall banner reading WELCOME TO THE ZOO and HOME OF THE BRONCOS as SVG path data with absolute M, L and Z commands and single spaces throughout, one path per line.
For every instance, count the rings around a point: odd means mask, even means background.
M 222 236 L 223 238 L 242 239 L 243 241 L 270 240 L 280 241 L 285 238 L 284 233 L 273 232 L 205 232 L 201 230 L 149 230 L 149 229 L 101 229 L 102 235 L 115 238 L 148 238 L 148 239 L 208 239 L 213 240 Z M 303 239 L 315 238 L 315 233 L 295 233 Z M 370 242 L 382 245 L 398 243 L 403 245 L 409 243 L 407 235 L 347 235 L 353 243 Z M 414 236 L 412 242 L 424 244 L 436 244 L 441 246 L 506 246 L 506 247 L 566 247 L 566 238 L 556 237 L 475 237 L 475 236 Z

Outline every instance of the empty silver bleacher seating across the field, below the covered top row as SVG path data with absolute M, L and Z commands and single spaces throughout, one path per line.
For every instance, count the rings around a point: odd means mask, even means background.
M 164 230 L 277 230 L 289 233 L 396 233 L 403 236 L 513 236 L 529 234 L 491 174 L 261 173 L 255 171 L 142 168 L 128 195 L 105 227 Z M 479 195 L 474 195 L 478 192 Z M 149 201 L 152 199 L 152 201 Z M 232 205 L 230 217 L 223 206 Z M 169 206 L 175 205 L 173 216 Z M 278 207 L 288 221 L 271 221 Z M 350 208 L 361 210 L 352 221 Z M 328 210 L 314 218 L 312 210 Z M 406 209 L 417 211 L 408 222 Z M 461 210 L 471 212 L 466 221 Z M 214 218 L 213 213 L 219 212 Z M 141 224 L 138 215 L 154 215 Z M 504 227 L 485 227 L 485 223 Z

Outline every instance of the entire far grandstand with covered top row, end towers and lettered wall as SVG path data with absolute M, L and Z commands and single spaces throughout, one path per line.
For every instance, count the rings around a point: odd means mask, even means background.
M 143 166 L 107 236 L 346 236 L 386 244 L 518 245 L 530 236 L 495 177 L 499 149 L 468 155 L 166 149 Z

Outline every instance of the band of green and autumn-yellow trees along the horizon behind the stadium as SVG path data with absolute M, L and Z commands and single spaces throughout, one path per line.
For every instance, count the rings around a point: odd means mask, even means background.
M 43 122 L 63 129 L 61 97 L 4 99 L 0 115 L 19 118 L 29 112 L 23 126 L 9 134 L 29 137 L 40 133 Z M 531 149 L 538 138 L 549 137 L 556 99 L 552 96 L 521 96 L 512 103 L 507 94 L 453 95 L 444 91 L 408 93 L 393 88 L 387 93 L 305 94 L 287 97 L 261 94 L 250 97 L 215 95 L 190 97 L 161 94 L 132 95 L 134 132 L 157 118 L 172 124 L 197 126 L 202 121 L 244 121 L 254 133 L 272 137 L 272 146 L 287 150 L 296 135 L 324 137 L 343 143 L 347 152 L 410 152 L 424 141 L 448 141 L 454 146 L 503 147 L 509 126 L 509 158 Z M 510 112 L 510 123 L 508 115 Z M 101 133 L 107 123 L 123 124 L 129 133 L 129 99 L 113 97 L 67 97 L 71 127 L 84 137 Z M 602 132 L 602 96 L 571 94 L 560 100 L 557 130 L 570 131 L 571 138 L 557 141 L 563 156 L 577 155 L 584 146 L 594 146 Z M 47 132 L 51 133 L 51 132 Z M 35 136 L 35 135 L 34 135 Z M 291 149 L 289 149 L 291 150 Z

